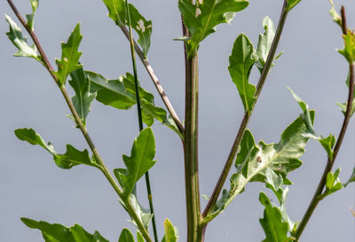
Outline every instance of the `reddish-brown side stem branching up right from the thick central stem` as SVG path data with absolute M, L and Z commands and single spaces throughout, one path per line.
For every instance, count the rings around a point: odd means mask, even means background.
M 260 75 L 259 81 L 257 82 L 256 94 L 255 94 L 256 101 L 259 98 L 261 90 L 263 89 L 267 74 L 269 74 L 270 68 L 272 67 L 273 59 L 275 58 L 275 52 L 280 42 L 280 36 L 282 34 L 283 27 L 285 26 L 285 22 L 288 17 L 288 11 L 286 7 L 287 7 L 287 0 L 284 1 L 284 4 L 282 6 L 279 24 L 272 41 L 272 47 L 270 52 L 268 53 L 263 72 Z M 254 106 L 256 105 L 256 101 L 254 102 Z M 254 106 L 253 106 L 253 110 L 254 110 Z M 225 167 L 223 168 L 221 175 L 218 178 L 215 189 L 213 190 L 212 195 L 209 199 L 209 203 L 207 204 L 205 210 L 202 213 L 202 218 L 209 215 L 209 212 L 212 210 L 212 208 L 215 206 L 217 202 L 218 196 L 223 189 L 228 173 L 232 168 L 233 160 L 235 159 L 235 156 L 238 152 L 239 146 L 241 144 L 241 138 L 244 135 L 245 129 L 247 129 L 248 121 L 250 119 L 253 110 L 250 113 L 248 112 L 244 113 L 243 119 L 241 120 L 240 128 L 238 129 L 237 137 L 235 137 L 231 152 L 229 152 L 228 158 L 225 161 Z

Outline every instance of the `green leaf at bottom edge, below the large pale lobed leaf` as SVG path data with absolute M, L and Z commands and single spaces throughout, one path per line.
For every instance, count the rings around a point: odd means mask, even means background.
M 288 237 L 288 222 L 283 220 L 279 207 L 273 207 L 264 192 L 260 192 L 259 200 L 265 207 L 264 218 L 259 219 L 266 235 L 263 242 L 293 241 Z

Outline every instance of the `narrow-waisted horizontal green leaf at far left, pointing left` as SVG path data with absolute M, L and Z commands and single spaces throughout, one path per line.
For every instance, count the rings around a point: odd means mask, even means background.
M 86 149 L 81 152 L 72 145 L 67 144 L 67 152 L 59 154 L 54 150 L 51 143 L 45 143 L 34 129 L 16 129 L 15 135 L 20 140 L 27 141 L 29 144 L 38 144 L 50 152 L 59 168 L 69 169 L 80 164 L 99 168 L 99 164 L 90 159 L 89 152 Z

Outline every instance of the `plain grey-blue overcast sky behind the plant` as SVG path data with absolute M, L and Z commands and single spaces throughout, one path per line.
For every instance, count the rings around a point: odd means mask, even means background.
M 30 12 L 29 0 L 14 2 L 22 15 Z M 264 16 L 269 15 L 276 25 L 282 2 L 250 1 L 245 11 L 236 14 L 232 25 L 218 26 L 217 33 L 201 43 L 199 155 L 202 194 L 210 195 L 213 190 L 243 115 L 238 91 L 227 70 L 233 42 L 243 32 L 256 46 L 257 36 L 264 30 Z M 147 19 L 153 20 L 148 58 L 183 120 L 183 45 L 171 41 L 182 35 L 177 1 L 136 0 L 133 4 Z M 335 0 L 337 10 L 341 4 L 346 6 L 349 27 L 355 28 L 355 2 Z M 301 113 L 287 90 L 288 86 L 316 109 L 315 128 L 319 134 L 338 135 L 343 114 L 335 102 L 347 98 L 344 84 L 347 63 L 335 51 L 343 48 L 343 41 L 339 27 L 328 14 L 329 8 L 327 0 L 304 0 L 289 14 L 278 49 L 278 52 L 285 52 L 269 74 L 249 122 L 248 128 L 256 141 L 279 142 L 282 130 Z M 0 10 L 16 20 L 6 1 L 1 1 Z M 84 68 L 110 79 L 131 72 L 129 43 L 106 13 L 105 4 L 99 0 L 40 1 L 36 33 L 51 63 L 60 57 L 60 42 L 67 41 L 75 24 L 81 21 L 83 42 L 80 50 L 83 51 Z M 38 230 L 31 230 L 20 222 L 22 216 L 67 226 L 78 222 L 91 233 L 99 230 L 110 241 L 117 241 L 123 227 L 135 232 L 114 191 L 98 170 L 85 166 L 59 169 L 51 155 L 41 147 L 21 142 L 14 136 L 14 129 L 27 127 L 51 141 L 59 152 L 65 151 L 66 144 L 87 148 L 79 130 L 74 129 L 73 122 L 65 116 L 69 110 L 51 76 L 32 59 L 12 57 L 16 50 L 5 35 L 7 31 L 3 19 L 0 21 L 0 107 L 3 113 L 0 127 L 0 241 L 43 241 Z M 142 86 L 152 91 L 156 104 L 162 106 L 140 63 L 138 69 Z M 252 82 L 255 83 L 257 77 L 255 68 Z M 130 154 L 133 138 L 138 135 L 136 109 L 118 111 L 94 102 L 87 126 L 107 166 L 122 168 L 121 156 Z M 180 241 L 185 241 L 182 146 L 170 129 L 158 123 L 153 129 L 157 163 L 150 175 L 158 233 L 162 238 L 163 220 L 169 217 L 179 230 Z M 355 163 L 354 134 L 352 120 L 335 163 L 335 168 L 342 168 L 340 178 L 343 182 L 350 176 Z M 317 142 L 310 141 L 301 160 L 304 165 L 289 176 L 295 184 L 290 187 L 287 207 L 288 215 L 294 221 L 304 215 L 327 155 Z M 228 182 L 226 186 L 229 186 Z M 354 190 L 355 184 L 351 183 L 343 191 L 320 202 L 304 230 L 302 241 L 355 241 L 355 218 L 350 211 L 350 207 L 355 207 Z M 138 191 L 146 192 L 144 183 L 138 185 Z M 209 224 L 206 242 L 262 241 L 264 231 L 258 219 L 263 216 L 264 207 L 257 199 L 259 191 L 265 191 L 262 183 L 248 184 L 246 191 L 234 199 L 225 213 Z M 273 195 L 270 197 L 276 201 Z M 205 205 L 206 201 L 201 199 L 201 207 Z

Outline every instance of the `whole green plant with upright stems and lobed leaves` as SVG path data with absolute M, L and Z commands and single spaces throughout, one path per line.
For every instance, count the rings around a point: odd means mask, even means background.
M 187 0 L 178 2 L 185 25 L 183 25 L 184 36 L 179 40 L 185 42 L 185 77 L 186 77 L 186 96 L 185 96 L 185 124 L 177 117 L 176 112 L 170 105 L 169 99 L 165 96 L 161 85 L 157 82 L 152 68 L 149 66 L 146 54 L 150 46 L 151 25 L 150 21 L 145 20 L 133 5 L 128 5 L 124 1 L 104 1 L 107 6 L 109 17 L 115 24 L 122 29 L 122 32 L 130 40 L 133 74 L 126 74 L 119 80 L 107 81 L 100 74 L 84 71 L 79 59 L 81 53 L 78 51 L 82 35 L 80 26 L 77 25 L 70 35 L 67 43 L 62 44 L 62 57 L 57 60 L 58 71 L 55 71 L 46 58 L 40 43 L 34 33 L 34 17 L 38 1 L 31 1 L 33 12 L 27 16 L 28 20 L 23 20 L 20 13 L 15 9 L 12 1 L 8 3 L 19 18 L 22 25 L 28 30 L 33 38 L 35 46 L 29 46 L 26 39 L 20 33 L 20 28 L 9 18 L 6 20 L 10 24 L 8 36 L 19 48 L 18 56 L 26 56 L 39 61 L 51 74 L 53 80 L 59 86 L 67 105 L 72 112 L 71 118 L 75 121 L 78 129 L 83 133 L 83 137 L 91 148 L 92 156 L 87 150 L 80 151 L 70 144 L 67 144 L 67 152 L 60 154 L 56 152 L 51 144 L 43 141 L 33 129 L 17 129 L 15 134 L 22 140 L 30 144 L 39 144 L 53 156 L 59 168 L 72 168 L 75 165 L 84 164 L 99 170 L 106 176 L 109 183 L 113 186 L 121 199 L 122 206 L 128 211 L 131 219 L 138 227 L 138 241 L 157 241 L 156 232 L 154 238 L 148 233 L 148 225 L 154 217 L 139 206 L 135 184 L 138 178 L 147 175 L 149 168 L 154 165 L 154 135 L 152 129 L 143 129 L 143 121 L 147 126 L 151 126 L 154 120 L 161 121 L 164 125 L 175 131 L 181 138 L 185 151 L 185 191 L 186 191 L 186 210 L 187 210 L 187 241 L 201 241 L 204 237 L 207 224 L 217 215 L 225 210 L 225 207 L 242 191 L 248 182 L 262 182 L 266 187 L 274 191 L 280 202 L 280 207 L 273 206 L 270 199 L 262 192 L 260 202 L 264 205 L 264 218 L 260 220 L 266 235 L 265 241 L 292 241 L 298 240 L 304 226 L 312 215 L 314 208 L 321 199 L 327 195 L 343 188 L 343 184 L 338 181 L 340 170 L 332 173 L 332 167 L 337 152 L 342 144 L 346 126 L 353 113 L 353 62 L 354 62 L 354 35 L 346 27 L 345 13 L 342 9 L 342 16 L 338 15 L 334 9 L 331 13 L 335 22 L 342 27 L 344 35 L 344 50 L 341 54 L 349 62 L 349 95 L 348 104 L 340 105 L 343 109 L 344 121 L 343 129 L 336 138 L 330 135 L 320 137 L 314 131 L 313 119 L 314 111 L 310 110 L 304 101 L 292 92 L 294 98 L 302 108 L 302 114 L 296 118 L 291 125 L 282 133 L 280 142 L 277 144 L 255 143 L 254 137 L 247 129 L 248 121 L 254 111 L 256 100 L 264 87 L 267 74 L 273 65 L 276 56 L 277 46 L 280 41 L 282 29 L 294 6 L 300 1 L 285 1 L 280 15 L 280 23 L 274 29 L 269 18 L 264 19 L 264 34 L 260 35 L 256 50 L 246 35 L 239 35 L 234 42 L 232 55 L 230 57 L 229 72 L 235 83 L 244 106 L 244 117 L 241 121 L 241 128 L 237 134 L 233 149 L 225 163 L 225 168 L 217 182 L 216 188 L 209 198 L 209 203 L 204 211 L 200 207 L 200 191 L 198 177 L 198 61 L 197 52 L 201 41 L 209 34 L 214 32 L 214 27 L 219 23 L 229 22 L 233 18 L 231 12 L 240 12 L 248 6 L 247 1 L 203 1 L 202 3 L 191 3 Z M 131 15 L 131 18 L 129 17 Z M 130 21 L 131 20 L 131 21 Z M 132 24 L 133 23 L 133 24 Z M 128 27 L 129 29 L 127 29 Z M 138 34 L 138 44 L 135 44 L 131 35 L 131 27 Z M 144 31 L 143 31 L 144 29 Z M 139 49 L 141 48 L 141 49 Z M 162 97 L 164 104 L 170 113 L 154 105 L 153 95 L 138 86 L 138 74 L 135 63 L 135 51 L 138 57 L 146 66 L 147 71 L 152 77 L 154 84 Z M 250 70 L 256 66 L 260 71 L 259 82 L 256 86 L 249 82 Z M 69 98 L 66 90 L 66 81 L 70 76 L 69 84 L 75 91 L 75 96 Z M 105 105 L 111 105 L 118 109 L 129 109 L 138 104 L 138 126 L 141 131 L 137 140 L 134 142 L 130 156 L 123 156 L 126 168 L 114 169 L 114 176 L 99 156 L 99 152 L 91 141 L 91 137 L 86 129 L 86 116 L 90 111 L 91 102 L 96 99 Z M 140 102 L 140 104 L 139 104 Z M 285 198 L 288 193 L 286 185 L 291 184 L 287 175 L 290 171 L 301 166 L 302 162 L 298 158 L 304 153 L 304 146 L 310 138 L 319 140 L 325 148 L 328 156 L 327 168 L 319 183 L 309 209 L 304 215 L 304 219 L 298 225 L 291 222 L 285 210 Z M 144 148 L 143 148 L 144 147 Z M 223 190 L 226 178 L 230 169 L 235 165 L 237 169 L 231 177 L 229 190 Z M 353 175 L 352 175 L 353 176 Z M 352 177 L 351 176 L 351 177 Z M 146 176 L 147 184 L 149 178 Z M 350 183 L 353 177 L 349 179 Z M 345 184 L 348 184 L 345 183 Z M 149 186 L 149 185 L 148 185 Z M 285 187 L 286 186 L 286 187 Z M 220 193 L 222 192 L 222 195 Z M 149 193 L 149 188 L 148 188 Z M 220 199 L 218 199 L 220 197 Z M 149 196 L 149 198 L 152 198 Z M 151 204 L 151 210 L 152 210 Z M 51 225 L 46 222 L 36 222 L 29 219 L 22 219 L 29 227 L 42 230 L 43 237 L 48 241 L 106 241 L 99 233 L 88 234 L 79 225 L 70 229 L 61 225 Z M 176 241 L 177 231 L 166 220 L 165 241 Z M 60 228 L 63 234 L 57 235 Z M 278 228 L 272 231 L 272 228 Z M 58 236 L 58 238 L 57 238 Z M 120 241 L 133 241 L 129 230 L 122 230 Z

